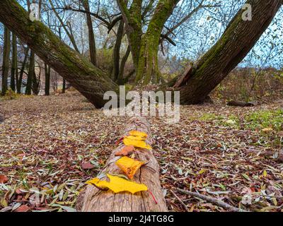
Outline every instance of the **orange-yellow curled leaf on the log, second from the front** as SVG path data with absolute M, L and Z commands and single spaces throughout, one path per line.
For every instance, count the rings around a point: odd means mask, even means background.
M 116 165 L 125 172 L 129 179 L 133 179 L 134 174 L 136 174 L 137 170 L 144 165 L 144 162 L 139 162 L 138 160 L 133 160 L 132 158 L 125 156 L 117 160 Z

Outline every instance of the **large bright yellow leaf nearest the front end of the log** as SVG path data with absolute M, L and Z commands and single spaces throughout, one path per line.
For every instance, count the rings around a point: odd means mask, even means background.
M 129 191 L 130 193 L 135 194 L 139 191 L 147 191 L 147 186 L 144 184 L 137 184 L 136 182 L 130 182 L 127 179 L 123 179 L 117 176 L 111 176 L 110 174 L 107 174 L 107 177 L 110 179 L 110 182 L 100 181 L 100 179 L 94 178 L 86 183 L 94 184 L 100 187 L 101 189 L 108 188 L 114 193 Z

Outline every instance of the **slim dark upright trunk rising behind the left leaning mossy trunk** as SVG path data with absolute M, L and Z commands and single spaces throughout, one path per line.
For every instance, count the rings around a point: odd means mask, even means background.
M 83 0 L 83 8 L 86 11 L 90 11 L 88 0 Z M 93 21 L 91 20 L 91 14 L 86 13 L 86 24 L 88 25 L 88 43 L 89 43 L 89 53 L 91 56 L 91 63 L 94 66 L 97 66 L 96 60 L 96 40 L 93 34 Z

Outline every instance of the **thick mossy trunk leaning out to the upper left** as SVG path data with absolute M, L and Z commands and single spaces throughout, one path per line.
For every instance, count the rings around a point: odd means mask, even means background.
M 86 57 L 64 44 L 40 21 L 32 22 L 16 0 L 0 1 L 0 21 L 96 107 L 108 102 L 103 100 L 105 92 L 118 91 L 117 84 Z

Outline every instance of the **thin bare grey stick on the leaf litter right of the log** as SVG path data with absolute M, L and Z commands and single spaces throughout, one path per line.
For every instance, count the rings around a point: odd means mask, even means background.
M 204 201 L 207 201 L 209 203 L 213 203 L 215 204 L 216 206 L 221 206 L 222 208 L 225 208 L 226 210 L 231 210 L 233 212 L 248 212 L 247 210 L 242 210 L 240 208 L 236 208 L 236 207 L 233 207 L 227 203 L 224 203 L 224 201 L 221 201 L 217 198 L 212 198 L 210 196 L 204 196 L 202 194 L 198 194 L 196 192 L 192 192 L 192 191 L 185 191 L 183 189 L 177 189 L 178 191 L 182 192 L 183 194 L 187 194 L 187 195 L 190 195 L 190 196 L 195 196 L 197 198 L 201 198 L 202 200 Z

